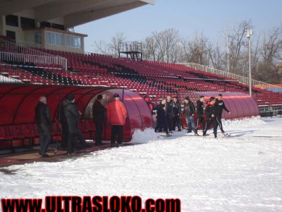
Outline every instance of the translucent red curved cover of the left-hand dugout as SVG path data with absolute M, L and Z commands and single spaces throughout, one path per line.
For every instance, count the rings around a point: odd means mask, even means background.
M 145 129 L 152 127 L 152 114 L 147 103 L 137 93 L 129 90 L 113 90 L 105 86 L 47 86 L 47 85 L 25 85 L 25 84 L 2 84 L 0 85 L 0 126 L 34 124 L 35 106 L 39 97 L 47 97 L 47 104 L 50 107 L 52 121 L 56 122 L 59 110 L 59 102 L 68 93 L 75 96 L 78 109 L 83 113 L 83 119 L 90 119 L 89 114 L 93 98 L 100 94 L 109 96 L 109 100 L 118 93 L 128 111 L 128 133 L 135 129 Z M 87 114 L 88 112 L 88 114 Z M 83 120 L 82 120 L 83 122 Z M 126 124 L 125 124 L 126 125 Z M 106 133 L 105 133 L 106 134 Z M 108 136 L 106 136 L 108 137 Z

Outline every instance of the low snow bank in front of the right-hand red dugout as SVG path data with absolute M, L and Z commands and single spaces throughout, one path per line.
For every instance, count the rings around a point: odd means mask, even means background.
M 230 130 L 230 129 L 248 128 L 250 126 L 266 124 L 266 122 L 264 122 L 261 117 L 257 116 L 252 118 L 233 119 L 233 120 L 222 119 L 222 124 L 223 124 L 223 129 Z

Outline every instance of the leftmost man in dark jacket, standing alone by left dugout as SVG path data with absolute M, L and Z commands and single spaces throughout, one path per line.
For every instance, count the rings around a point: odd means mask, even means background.
M 40 152 L 43 157 L 48 157 L 47 149 L 51 142 L 51 115 L 47 106 L 47 98 L 42 96 L 35 107 L 35 121 L 40 138 Z

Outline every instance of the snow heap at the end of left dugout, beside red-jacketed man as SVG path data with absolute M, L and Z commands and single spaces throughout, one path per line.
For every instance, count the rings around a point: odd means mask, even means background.
M 135 129 L 133 133 L 133 139 L 130 141 L 130 143 L 140 144 L 157 140 L 159 140 L 159 135 L 154 132 L 154 129 L 147 128 L 144 131 Z

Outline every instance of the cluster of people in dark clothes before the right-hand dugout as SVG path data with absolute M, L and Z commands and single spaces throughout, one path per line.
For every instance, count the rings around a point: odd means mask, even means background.
M 157 102 L 157 126 L 155 132 L 166 132 L 167 136 L 171 136 L 173 131 L 181 131 L 180 114 L 183 113 L 185 121 L 188 126 L 188 134 L 194 132 L 195 136 L 199 136 L 198 129 L 200 124 L 203 128 L 203 136 L 207 136 L 207 130 L 212 125 L 214 128 L 214 137 L 217 138 L 217 128 L 221 129 L 221 133 L 225 134 L 223 130 L 221 115 L 223 110 L 230 113 L 223 102 L 223 95 L 219 94 L 217 98 L 211 97 L 206 105 L 204 105 L 204 96 L 201 95 L 197 100 L 195 107 L 194 103 L 189 97 L 183 100 L 183 108 L 181 107 L 180 100 L 177 97 L 171 99 L 170 96 L 162 98 Z M 204 118 L 204 114 L 205 117 Z M 197 123 L 195 123 L 195 116 L 197 116 Z

